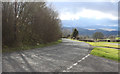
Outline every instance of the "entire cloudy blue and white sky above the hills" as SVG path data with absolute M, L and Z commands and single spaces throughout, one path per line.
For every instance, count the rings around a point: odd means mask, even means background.
M 113 0 L 115 1 L 115 0 Z M 63 27 L 118 30 L 118 2 L 51 2 Z

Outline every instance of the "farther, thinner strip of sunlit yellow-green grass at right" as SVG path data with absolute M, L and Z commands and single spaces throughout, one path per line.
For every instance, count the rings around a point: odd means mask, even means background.
M 113 42 L 87 42 L 87 43 L 89 43 L 92 46 L 120 48 L 118 45 L 109 44 L 109 43 L 113 43 Z

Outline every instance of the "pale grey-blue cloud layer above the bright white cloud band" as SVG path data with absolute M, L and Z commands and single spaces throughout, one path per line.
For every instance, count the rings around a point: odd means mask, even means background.
M 68 9 L 71 12 L 76 12 L 82 8 L 86 8 L 110 13 L 115 16 L 118 13 L 118 3 L 116 2 L 55 2 L 53 4 L 59 11 Z

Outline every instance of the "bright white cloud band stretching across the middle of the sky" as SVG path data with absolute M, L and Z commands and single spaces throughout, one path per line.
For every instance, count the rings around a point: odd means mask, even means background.
M 78 20 L 81 17 L 84 18 L 92 18 L 92 19 L 110 19 L 110 20 L 117 20 L 118 17 L 112 15 L 110 13 L 104 13 L 98 10 L 86 9 L 83 8 L 81 11 L 77 11 L 76 13 L 64 11 L 60 14 L 61 20 Z

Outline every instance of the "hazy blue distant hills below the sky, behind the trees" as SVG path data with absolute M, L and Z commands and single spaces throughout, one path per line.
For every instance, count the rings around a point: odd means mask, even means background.
M 72 32 L 74 27 L 63 27 L 62 29 L 69 29 Z M 88 29 L 83 29 L 83 28 L 77 27 L 77 30 L 79 31 L 79 35 L 88 35 L 88 36 L 92 36 L 93 33 L 95 33 L 95 32 L 102 32 L 105 36 L 118 34 L 118 31 L 106 31 L 106 30 L 102 30 L 102 29 L 88 30 Z

